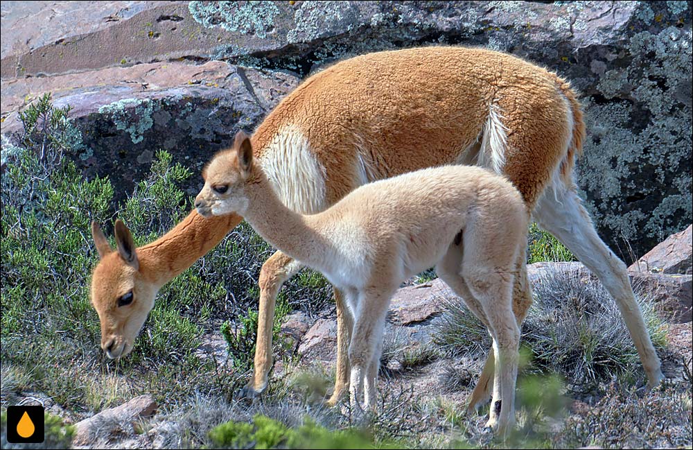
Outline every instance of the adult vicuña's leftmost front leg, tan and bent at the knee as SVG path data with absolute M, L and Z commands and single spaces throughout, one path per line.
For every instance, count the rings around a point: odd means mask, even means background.
M 241 397 L 254 397 L 267 388 L 267 374 L 272 369 L 272 330 L 277 293 L 284 282 L 299 270 L 301 264 L 282 252 L 274 253 L 262 266 L 258 282 L 260 310 L 253 374 L 247 386 L 240 391 Z

